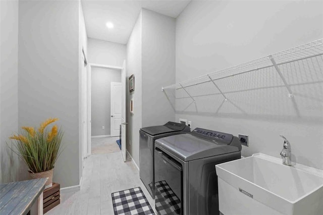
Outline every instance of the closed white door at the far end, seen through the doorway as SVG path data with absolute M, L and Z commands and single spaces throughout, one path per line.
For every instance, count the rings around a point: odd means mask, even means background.
M 121 125 L 121 105 L 122 105 L 122 84 L 120 82 L 111 82 L 111 136 L 120 135 Z

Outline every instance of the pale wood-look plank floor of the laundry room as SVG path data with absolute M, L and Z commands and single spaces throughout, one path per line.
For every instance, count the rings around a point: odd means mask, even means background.
M 134 187 L 141 187 L 154 209 L 153 199 L 132 160 L 123 162 L 121 152 L 94 154 L 85 159 L 81 190 L 64 194 L 63 203 L 46 214 L 113 215 L 111 193 Z

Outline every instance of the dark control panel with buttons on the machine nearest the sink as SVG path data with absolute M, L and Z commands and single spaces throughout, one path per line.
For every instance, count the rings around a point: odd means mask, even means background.
M 207 130 L 207 129 L 203 129 L 203 128 L 195 128 L 192 133 L 195 136 L 199 136 L 205 139 L 209 139 L 212 141 L 216 141 L 216 142 L 222 142 L 222 143 L 226 143 L 229 144 L 231 143 L 232 139 L 233 139 L 233 135 L 232 134 L 227 134 L 227 133 L 223 133 L 223 132 L 219 132 L 219 131 L 212 131 L 212 130 Z

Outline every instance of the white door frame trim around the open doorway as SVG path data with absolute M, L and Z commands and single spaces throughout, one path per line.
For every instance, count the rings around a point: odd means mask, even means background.
M 102 69 L 115 69 L 120 70 L 120 74 L 122 72 L 122 67 L 118 66 L 111 66 L 111 65 L 104 65 L 104 64 L 95 64 L 95 63 L 89 63 L 88 64 L 88 70 L 87 70 L 87 151 L 88 155 L 91 155 L 91 146 L 92 146 L 92 140 L 91 140 L 91 84 L 92 84 L 92 68 L 102 68 Z

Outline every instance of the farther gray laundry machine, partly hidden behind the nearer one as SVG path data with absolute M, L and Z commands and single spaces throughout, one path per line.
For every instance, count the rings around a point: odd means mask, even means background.
M 190 128 L 185 124 L 175 122 L 168 122 L 161 126 L 145 127 L 139 130 L 139 175 L 152 198 L 154 197 L 154 141 L 158 138 L 190 131 Z

